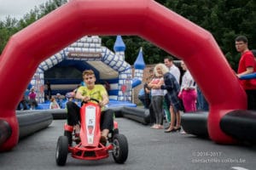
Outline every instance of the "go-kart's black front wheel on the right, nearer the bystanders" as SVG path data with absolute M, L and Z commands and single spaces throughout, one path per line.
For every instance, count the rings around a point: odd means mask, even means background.
M 113 136 L 113 160 L 117 163 L 124 163 L 128 157 L 128 142 L 123 134 Z

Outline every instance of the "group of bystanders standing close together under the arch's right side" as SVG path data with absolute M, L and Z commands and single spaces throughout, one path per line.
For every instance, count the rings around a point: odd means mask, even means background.
M 157 64 L 149 71 L 147 82 L 139 93 L 144 108 L 149 109 L 151 127 L 166 128 L 165 133 L 181 130 L 181 111 L 197 110 L 195 81 L 183 61 L 180 66 L 181 69 L 171 56 L 166 57 L 164 64 Z M 146 102 L 147 98 L 149 102 Z M 164 122 L 168 122 L 167 127 Z

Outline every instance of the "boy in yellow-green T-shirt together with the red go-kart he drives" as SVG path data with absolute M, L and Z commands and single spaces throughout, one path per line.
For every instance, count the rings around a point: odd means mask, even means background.
M 67 102 L 67 124 L 64 136 L 58 139 L 56 163 L 65 165 L 68 152 L 74 158 L 97 160 L 108 157 L 108 151 L 113 153 L 114 161 L 124 163 L 128 156 L 128 143 L 125 135 L 119 134 L 117 122 L 113 122 L 113 110 L 105 108 L 109 102 L 108 93 L 101 84 L 95 84 L 93 71 L 84 71 L 83 78 L 86 87 L 80 87 L 75 94 L 77 99 L 81 99 L 82 107 L 72 101 Z M 76 146 L 72 146 L 73 140 Z

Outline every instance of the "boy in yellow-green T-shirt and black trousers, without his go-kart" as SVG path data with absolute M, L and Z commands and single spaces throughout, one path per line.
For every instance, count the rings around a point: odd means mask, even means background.
M 101 84 L 95 84 L 96 77 L 93 71 L 86 70 L 83 72 L 86 87 L 81 86 L 75 95 L 76 99 L 81 99 L 82 103 L 92 99 L 97 99 L 101 106 L 101 130 L 102 142 L 106 142 L 108 133 L 113 129 L 113 110 L 106 110 L 105 105 L 108 104 L 108 93 Z M 76 136 L 79 138 L 79 121 L 80 107 L 73 102 L 67 102 L 67 125 L 75 128 Z M 79 139 L 78 139 L 79 140 Z

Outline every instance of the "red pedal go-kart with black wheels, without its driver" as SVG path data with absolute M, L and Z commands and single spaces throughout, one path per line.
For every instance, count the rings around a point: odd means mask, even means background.
M 101 143 L 101 108 L 92 100 L 99 103 L 96 99 L 90 99 L 80 109 L 80 141 L 75 141 L 73 127 L 64 125 L 64 135 L 59 137 L 55 151 L 57 165 L 66 164 L 68 153 L 80 160 L 100 160 L 112 153 L 116 163 L 121 164 L 126 161 L 128 142 L 125 135 L 119 134 L 117 122 L 113 122 L 113 130 L 108 134 L 107 144 Z

